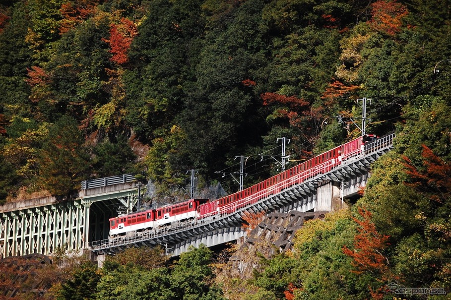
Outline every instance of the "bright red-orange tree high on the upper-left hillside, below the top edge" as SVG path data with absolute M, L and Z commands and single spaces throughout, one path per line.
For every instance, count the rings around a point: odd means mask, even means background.
M 117 64 L 124 64 L 128 61 L 129 51 L 133 38 L 138 34 L 136 25 L 127 18 L 121 18 L 120 24 L 110 25 L 110 39 L 103 41 L 110 44 L 110 53 L 113 54 L 110 60 Z

